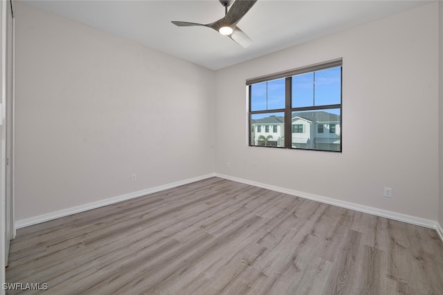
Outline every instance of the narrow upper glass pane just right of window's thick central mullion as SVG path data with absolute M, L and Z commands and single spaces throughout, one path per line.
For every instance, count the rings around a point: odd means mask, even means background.
M 314 106 L 314 73 L 292 77 L 292 107 Z

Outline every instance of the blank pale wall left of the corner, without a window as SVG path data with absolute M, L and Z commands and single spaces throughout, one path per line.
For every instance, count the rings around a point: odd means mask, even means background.
M 16 10 L 16 220 L 213 173 L 213 71 Z

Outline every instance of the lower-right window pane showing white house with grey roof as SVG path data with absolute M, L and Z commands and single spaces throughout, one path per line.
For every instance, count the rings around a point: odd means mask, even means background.
M 293 149 L 341 151 L 340 108 L 292 112 Z

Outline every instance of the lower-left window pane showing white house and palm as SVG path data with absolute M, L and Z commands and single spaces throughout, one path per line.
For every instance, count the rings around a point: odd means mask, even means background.
M 254 114 L 250 120 L 251 146 L 284 146 L 284 113 Z

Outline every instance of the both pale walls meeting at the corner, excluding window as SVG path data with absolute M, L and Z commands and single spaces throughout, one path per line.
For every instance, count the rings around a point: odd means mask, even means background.
M 213 72 L 17 3 L 16 220 L 217 172 L 442 225 L 438 6 Z M 245 80 L 337 57 L 343 153 L 248 147 Z

